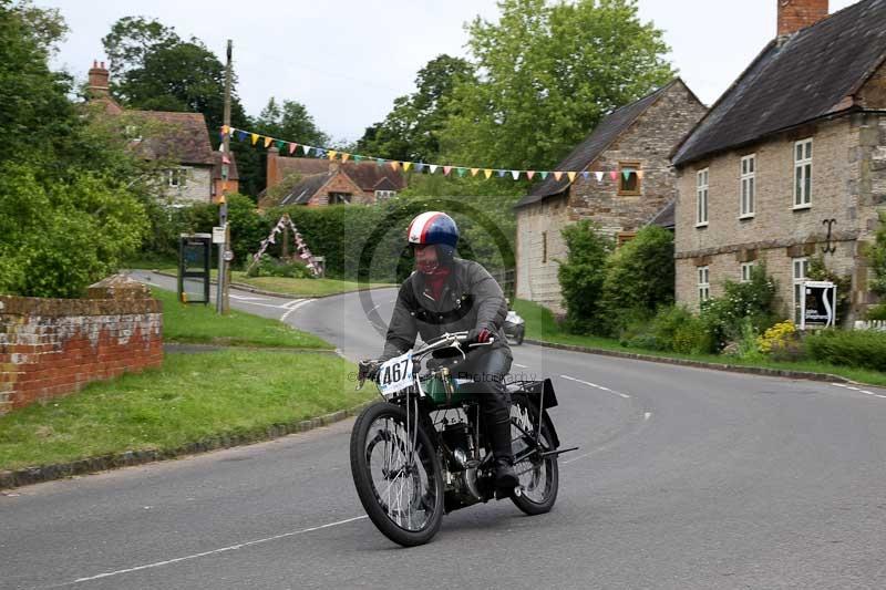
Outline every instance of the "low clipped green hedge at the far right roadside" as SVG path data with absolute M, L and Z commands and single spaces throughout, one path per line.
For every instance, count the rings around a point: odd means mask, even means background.
M 886 333 L 876 330 L 822 330 L 806 337 L 814 360 L 837 365 L 886 371 Z

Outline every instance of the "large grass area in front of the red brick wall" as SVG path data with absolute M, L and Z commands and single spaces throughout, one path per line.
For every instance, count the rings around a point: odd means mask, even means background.
M 162 369 L 0 416 L 0 470 L 171 451 L 353 407 L 373 396 L 353 391 L 354 370 L 319 353 L 167 354 Z

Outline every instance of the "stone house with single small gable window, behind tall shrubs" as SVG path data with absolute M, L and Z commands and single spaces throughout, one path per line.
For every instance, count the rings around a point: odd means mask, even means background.
M 571 182 L 549 175 L 521 199 L 515 207 L 517 297 L 564 312 L 557 269 L 566 258 L 560 231 L 569 224 L 591 219 L 619 242 L 653 219 L 672 226 L 668 211 L 677 178 L 669 156 L 704 113 L 686 83 L 674 79 L 614 111 L 556 167 L 589 174 Z

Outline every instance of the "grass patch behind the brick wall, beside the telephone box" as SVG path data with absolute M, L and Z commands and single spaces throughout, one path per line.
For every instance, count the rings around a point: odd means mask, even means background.
M 181 303 L 175 293 L 153 288 L 163 301 L 163 339 L 166 342 L 332 350 L 334 346 L 307 332 L 251 313 L 230 310 L 218 315 L 212 306 Z

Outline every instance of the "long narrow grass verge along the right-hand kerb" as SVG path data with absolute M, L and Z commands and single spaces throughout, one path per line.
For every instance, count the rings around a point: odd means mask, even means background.
M 731 366 L 761 366 L 765 369 L 781 369 L 786 371 L 804 371 L 808 373 L 827 373 L 838 375 L 858 383 L 878 385 L 886 387 L 886 373 L 870 371 L 867 369 L 856 369 L 852 366 L 839 366 L 815 361 L 780 362 L 771 360 L 743 360 L 735 356 L 722 354 L 680 354 L 677 352 L 662 352 L 658 350 L 633 349 L 622 346 L 618 340 L 611 338 L 577 335 L 564 332 L 550 310 L 537 303 L 517 299 L 514 301 L 514 310 L 526 321 L 526 338 L 540 340 L 556 344 L 569 344 L 574 346 L 586 346 L 590 349 L 602 349 L 607 351 L 619 351 L 636 354 L 646 354 L 663 359 L 684 359 L 703 363 L 725 364 Z

